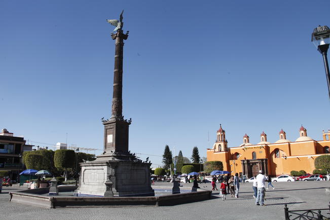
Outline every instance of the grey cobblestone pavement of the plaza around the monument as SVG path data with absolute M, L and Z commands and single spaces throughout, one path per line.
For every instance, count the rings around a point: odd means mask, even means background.
M 156 186 L 171 186 L 156 183 Z M 184 184 L 191 186 L 191 184 Z M 200 184 L 202 189 L 211 189 L 210 184 Z M 324 187 L 330 181 L 276 182 L 275 190 L 266 192 L 267 206 L 255 206 L 252 184 L 241 184 L 239 198 L 219 198 L 213 191 L 212 199 L 176 206 L 135 206 L 97 208 L 46 209 L 9 202 L 10 191 L 18 187 L 3 188 L 0 194 L 1 219 L 284 219 L 284 203 L 289 209 L 328 208 L 330 196 Z

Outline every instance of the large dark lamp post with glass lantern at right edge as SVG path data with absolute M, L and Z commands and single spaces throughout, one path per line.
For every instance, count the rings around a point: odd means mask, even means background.
M 318 52 L 320 52 L 323 56 L 327 89 L 330 98 L 330 73 L 329 73 L 329 65 L 327 62 L 327 50 L 329 48 L 329 40 L 330 40 L 330 29 L 328 26 L 320 26 L 316 27 L 312 33 L 312 42 L 316 46 Z

